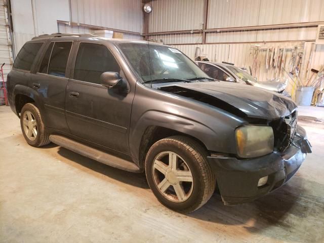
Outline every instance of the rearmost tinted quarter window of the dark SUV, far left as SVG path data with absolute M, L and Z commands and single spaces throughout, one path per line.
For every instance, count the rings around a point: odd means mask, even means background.
M 26 43 L 15 59 L 14 68 L 30 71 L 31 65 L 42 45 L 43 43 Z

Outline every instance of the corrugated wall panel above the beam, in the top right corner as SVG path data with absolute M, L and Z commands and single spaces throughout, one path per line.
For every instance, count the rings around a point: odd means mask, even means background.
M 322 0 L 210 0 L 207 28 L 324 21 Z

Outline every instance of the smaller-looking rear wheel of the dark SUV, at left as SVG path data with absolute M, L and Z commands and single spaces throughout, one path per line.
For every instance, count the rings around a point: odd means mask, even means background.
M 35 104 L 27 103 L 22 107 L 20 126 L 22 134 L 29 145 L 41 147 L 50 143 L 49 134 L 46 132 L 41 113 Z M 31 126 L 33 131 L 30 135 L 28 132 L 30 132 L 29 128 Z

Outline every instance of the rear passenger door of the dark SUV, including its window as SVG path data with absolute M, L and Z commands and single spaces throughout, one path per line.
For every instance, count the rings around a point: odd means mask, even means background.
M 50 42 L 29 86 L 43 97 L 46 125 L 69 133 L 65 119 L 65 89 L 68 83 L 72 42 Z

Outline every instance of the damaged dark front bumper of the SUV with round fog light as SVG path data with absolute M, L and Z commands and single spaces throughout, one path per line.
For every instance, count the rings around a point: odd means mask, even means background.
M 311 153 L 305 130 L 297 126 L 290 146 L 282 153 L 273 152 L 261 157 L 209 156 L 208 161 L 216 175 L 217 185 L 225 205 L 247 203 L 284 185 L 297 172 Z M 260 178 L 268 176 L 267 183 L 258 186 Z

